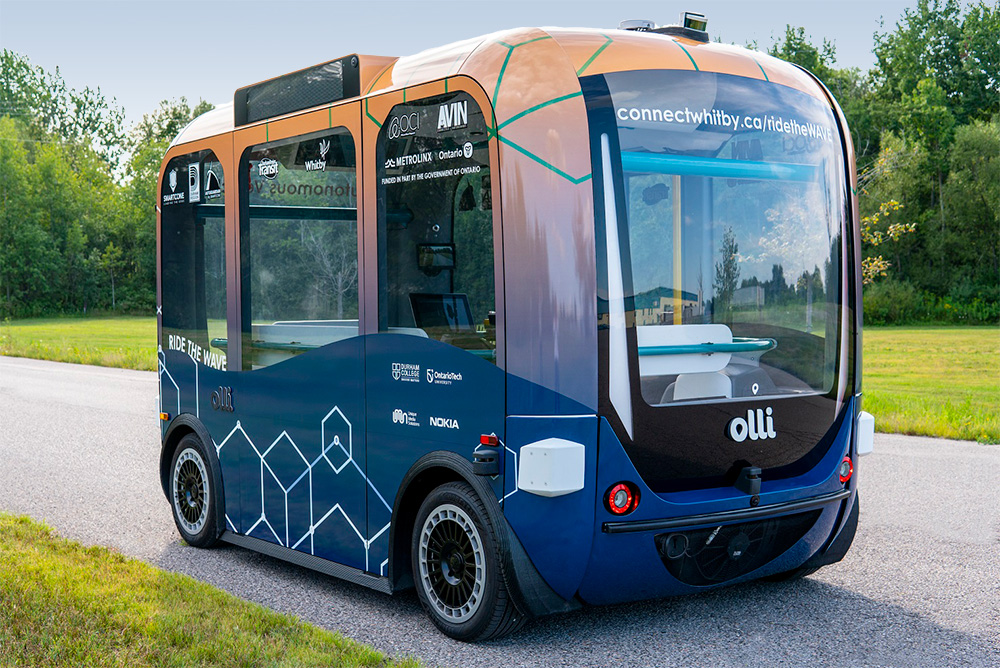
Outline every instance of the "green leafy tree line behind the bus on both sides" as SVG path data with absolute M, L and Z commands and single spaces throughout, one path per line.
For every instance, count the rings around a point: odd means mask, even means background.
M 867 72 L 787 26 L 769 49 L 816 74 L 858 159 L 868 322 L 1000 321 L 1000 8 L 919 0 Z M 751 45 L 755 47 L 755 45 Z M 206 102 L 126 129 L 99 89 L 0 53 L 0 317 L 155 309 L 155 188 Z

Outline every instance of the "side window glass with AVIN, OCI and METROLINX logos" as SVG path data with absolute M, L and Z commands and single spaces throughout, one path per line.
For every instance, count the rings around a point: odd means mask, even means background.
M 466 93 L 389 113 L 378 138 L 379 331 L 494 360 L 488 137 Z

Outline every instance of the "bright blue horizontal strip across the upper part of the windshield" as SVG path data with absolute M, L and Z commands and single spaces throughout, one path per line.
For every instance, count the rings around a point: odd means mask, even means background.
M 663 153 L 622 151 L 622 169 L 626 172 L 676 174 L 678 176 L 715 176 L 730 179 L 769 179 L 780 181 L 815 181 L 815 165 L 791 162 L 726 160 Z

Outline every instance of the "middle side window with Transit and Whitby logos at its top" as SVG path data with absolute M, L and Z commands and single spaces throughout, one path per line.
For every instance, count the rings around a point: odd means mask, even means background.
M 355 164 L 344 129 L 244 152 L 244 370 L 358 335 Z

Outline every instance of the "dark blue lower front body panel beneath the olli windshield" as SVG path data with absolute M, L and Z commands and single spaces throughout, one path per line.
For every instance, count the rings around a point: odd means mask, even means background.
M 848 417 L 853 416 L 854 406 L 848 404 L 843 410 Z M 592 506 L 589 515 L 583 510 L 587 504 L 566 505 L 574 495 L 559 502 L 558 498 L 519 491 L 515 495 L 521 497 L 518 503 L 511 503 L 511 497 L 505 508 L 511 527 L 532 563 L 553 590 L 567 600 L 577 597 L 590 604 L 612 604 L 675 596 L 794 570 L 830 545 L 856 500 L 855 479 L 845 489 L 838 473 L 841 459 L 851 452 L 852 419 L 840 423 L 830 450 L 809 472 L 796 478 L 771 481 L 765 478 L 759 506 L 754 507 L 749 495 L 733 487 L 670 494 L 653 492 L 642 482 L 607 420 L 596 419 L 599 422 L 596 472 L 591 477 L 592 459 L 588 456 L 586 489 L 574 493 L 588 500 Z M 527 427 L 511 419 L 508 436 L 523 444 L 530 440 L 527 433 L 521 434 Z M 548 433 L 554 427 L 547 424 L 547 429 L 537 434 L 532 429 L 532 438 L 557 435 Z M 586 445 L 589 453 L 592 444 Z M 513 478 L 508 477 L 508 486 L 515 482 Z M 640 492 L 638 508 L 627 517 L 612 515 L 603 504 L 605 491 L 620 481 L 632 482 Z M 822 502 L 814 502 L 817 497 Z M 566 507 L 553 515 L 554 501 Z M 774 512 L 766 513 L 768 507 L 773 507 Z M 751 510 L 758 514 L 739 516 L 741 511 Z M 761 511 L 765 511 L 763 515 L 759 514 Z M 712 518 L 701 524 L 685 519 L 726 512 L 737 516 Z M 576 535 L 581 521 L 587 519 L 589 541 Z M 673 524 L 670 528 L 631 527 L 615 533 L 605 530 L 606 523 L 659 520 Z M 716 530 L 718 527 L 722 528 Z M 670 539 L 674 534 L 683 537 Z M 667 556 L 668 540 L 675 541 L 672 544 L 675 559 Z M 742 563 L 737 565 L 741 558 Z M 582 577 L 578 575 L 581 563 L 586 564 Z

